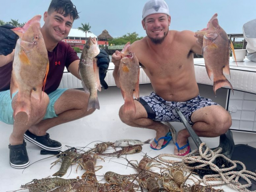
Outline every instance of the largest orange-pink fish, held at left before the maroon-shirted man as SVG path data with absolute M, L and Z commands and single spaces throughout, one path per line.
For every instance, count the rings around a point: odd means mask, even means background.
M 42 99 L 42 87 L 45 86 L 49 71 L 49 59 L 41 33 L 41 15 L 36 15 L 23 27 L 13 29 L 19 35 L 15 46 L 13 71 L 11 74 L 11 97 L 16 91 L 17 101 L 14 115 L 23 111 L 27 114 L 27 121 L 31 112 L 31 96 Z

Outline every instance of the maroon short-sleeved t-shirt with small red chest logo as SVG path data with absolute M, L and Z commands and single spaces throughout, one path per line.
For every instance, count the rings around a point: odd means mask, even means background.
M 69 65 L 75 60 L 79 60 L 77 53 L 73 48 L 65 43 L 59 42 L 53 52 L 48 51 L 49 57 L 49 73 L 46 79 L 45 92 L 47 94 L 55 91 L 61 83 L 64 67 L 69 68 Z M 0 91 L 10 89 L 11 71 L 13 70 L 13 62 L 0 67 Z

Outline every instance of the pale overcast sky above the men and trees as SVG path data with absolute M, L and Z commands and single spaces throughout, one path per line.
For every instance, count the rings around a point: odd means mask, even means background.
M 90 23 L 91 32 L 99 35 L 103 30 L 112 37 L 136 32 L 146 35 L 141 25 L 142 9 L 147 0 L 73 0 L 79 13 L 73 28 Z M 50 0 L 0 0 L 0 19 L 19 23 L 48 9 Z M 171 30 L 197 31 L 206 27 L 209 19 L 218 13 L 219 25 L 230 33 L 243 33 L 244 23 L 256 18 L 256 0 L 166 0 L 171 15 Z M 41 25 L 43 21 L 41 19 Z

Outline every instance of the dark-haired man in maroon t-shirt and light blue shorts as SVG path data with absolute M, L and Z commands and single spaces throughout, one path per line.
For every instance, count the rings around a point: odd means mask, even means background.
M 17 95 L 13 97 L 13 101 L 10 97 L 13 49 L 18 36 L 10 30 L 12 26 L 0 26 L 0 121 L 13 124 L 9 145 L 12 167 L 25 168 L 30 164 L 24 138 L 42 149 L 59 151 L 62 148 L 61 143 L 50 139 L 46 131 L 62 123 L 85 117 L 95 110 L 87 111 L 89 94 L 85 91 L 58 89 L 65 66 L 71 74 L 79 78 L 77 53 L 70 45 L 62 42 L 62 39 L 69 35 L 74 20 L 78 18 L 77 9 L 70 0 L 52 0 L 49 9 L 43 14 L 45 24 L 41 31 L 48 51 L 50 67 L 42 101 L 38 102 L 31 97 L 31 117 L 28 122 L 23 120 L 27 121 L 23 116 L 26 115 L 25 113 L 18 113 L 14 121 L 13 106 Z M 101 50 L 97 58 L 104 79 L 106 76 L 104 71 L 109 65 L 109 55 Z

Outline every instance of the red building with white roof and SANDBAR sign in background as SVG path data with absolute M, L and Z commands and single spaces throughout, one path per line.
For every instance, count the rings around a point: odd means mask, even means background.
M 106 31 L 106 30 L 104 30 Z M 108 32 L 107 32 L 108 34 Z M 85 45 L 86 43 L 86 37 L 95 37 L 98 41 L 98 45 L 99 46 L 105 46 L 105 45 L 109 45 L 109 42 L 107 41 L 107 38 L 111 37 L 110 35 L 106 35 L 106 38 L 101 38 L 98 39 L 98 37 L 96 35 L 94 35 L 93 33 L 87 33 L 87 35 L 85 35 L 85 32 L 78 30 L 78 29 L 71 29 L 69 32 L 69 36 L 66 39 L 63 39 L 63 42 L 69 43 L 71 47 L 79 47 L 81 50 L 83 49 L 83 45 Z M 104 35 L 105 37 L 105 35 Z

